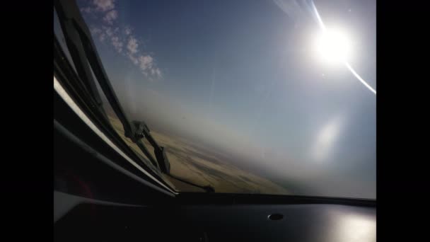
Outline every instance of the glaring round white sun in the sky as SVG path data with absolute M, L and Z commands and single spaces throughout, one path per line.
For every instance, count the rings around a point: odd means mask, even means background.
M 337 29 L 321 31 L 314 47 L 317 57 L 328 64 L 347 62 L 351 55 L 351 42 L 343 31 Z

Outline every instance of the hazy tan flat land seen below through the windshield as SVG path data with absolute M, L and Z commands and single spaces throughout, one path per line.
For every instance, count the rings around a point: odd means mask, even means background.
M 124 129 L 116 115 L 108 112 L 108 117 L 122 139 L 132 149 L 144 156 L 136 144 L 124 137 Z M 151 129 L 151 127 L 149 128 Z M 214 187 L 215 192 L 283 195 L 290 193 L 270 180 L 233 166 L 232 161 L 228 161 L 227 156 L 216 153 L 216 151 L 208 150 L 181 137 L 173 137 L 153 129 L 151 129 L 151 135 L 160 146 L 165 147 L 170 161 L 170 173 L 183 178 L 183 180 L 199 185 L 211 185 Z M 144 139 L 144 143 L 152 151 L 152 146 L 149 145 L 146 139 Z M 177 190 L 201 191 L 199 188 L 193 188 L 167 176 L 165 178 L 168 178 Z

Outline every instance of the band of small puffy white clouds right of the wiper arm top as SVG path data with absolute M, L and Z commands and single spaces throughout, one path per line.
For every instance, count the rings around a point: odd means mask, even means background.
M 136 38 L 131 26 L 121 27 L 117 23 L 118 11 L 115 7 L 115 0 L 93 0 L 89 6 L 81 8 L 81 12 L 91 15 L 100 21 L 100 28 L 91 26 L 91 33 L 105 42 L 108 39 L 115 51 L 127 57 L 132 64 L 139 67 L 144 76 L 149 81 L 161 79 L 163 74 L 156 66 L 151 54 L 139 50 L 141 42 Z

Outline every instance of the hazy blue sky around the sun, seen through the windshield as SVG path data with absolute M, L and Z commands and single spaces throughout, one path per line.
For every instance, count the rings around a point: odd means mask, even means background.
M 315 60 L 307 1 L 282 2 L 78 0 L 131 117 L 308 195 L 374 198 L 376 96 Z M 350 64 L 376 88 L 376 2 L 315 5 L 348 30 Z

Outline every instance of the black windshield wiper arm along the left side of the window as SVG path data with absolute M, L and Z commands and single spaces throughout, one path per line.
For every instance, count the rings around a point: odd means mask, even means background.
M 91 71 L 95 75 L 95 79 L 100 84 L 100 88 L 102 88 L 102 91 L 108 99 L 108 103 L 114 110 L 115 115 L 117 115 L 122 123 L 124 136 L 131 139 L 132 142 L 139 146 L 139 149 L 141 149 L 149 161 L 151 161 L 153 166 L 158 168 L 162 173 L 170 175 L 170 177 L 175 178 L 176 180 L 202 188 L 207 192 L 214 192 L 214 188 L 210 185 L 196 185 L 170 174 L 170 162 L 165 154 L 165 149 L 163 146 L 159 146 L 155 139 L 153 139 L 146 123 L 143 121 L 129 122 L 127 115 L 124 113 L 124 110 L 120 105 L 120 101 L 115 95 L 115 91 L 108 79 L 108 75 L 103 68 L 100 57 L 98 56 L 95 44 L 91 38 L 90 30 L 83 20 L 76 2 L 70 0 L 55 0 L 54 6 L 57 10 L 64 39 L 66 40 L 66 45 L 69 48 L 71 59 L 75 64 L 76 71 L 78 72 L 78 75 L 87 91 L 91 93 L 95 102 L 98 103 L 100 111 L 104 113 L 103 108 L 100 108 L 102 102 Z M 105 115 L 105 118 L 108 117 Z M 153 159 L 153 156 L 141 141 L 141 139 L 145 137 L 149 144 L 153 146 L 156 159 Z

